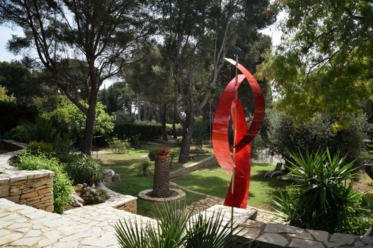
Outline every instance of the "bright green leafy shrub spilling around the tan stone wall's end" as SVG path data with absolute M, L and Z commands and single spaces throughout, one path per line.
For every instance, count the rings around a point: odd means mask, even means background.
M 46 154 L 32 155 L 25 151 L 19 155 L 19 163 L 14 164 L 20 170 L 50 170 L 54 172 L 53 177 L 53 207 L 54 212 L 62 213 L 65 206 L 71 202 L 71 192 L 73 190 L 72 181 L 62 170 L 57 158 L 52 158 Z

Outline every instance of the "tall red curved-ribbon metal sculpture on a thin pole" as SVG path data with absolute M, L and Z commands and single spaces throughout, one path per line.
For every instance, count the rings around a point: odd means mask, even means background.
M 217 104 L 212 141 L 217 162 L 226 173 L 232 174 L 224 205 L 246 209 L 251 169 L 250 142 L 260 130 L 266 107 L 263 93 L 253 75 L 238 64 L 238 58 L 236 61 L 229 58 L 225 60 L 236 67 L 236 77 L 228 83 Z M 238 70 L 243 74 L 238 74 Z M 245 78 L 253 90 L 255 101 L 254 117 L 249 128 L 241 101 L 237 99 L 238 87 Z M 232 115 L 234 129 L 234 146 L 231 149 L 228 142 L 229 114 Z

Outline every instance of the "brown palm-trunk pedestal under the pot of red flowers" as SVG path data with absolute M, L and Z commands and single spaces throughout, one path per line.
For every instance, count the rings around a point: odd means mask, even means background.
M 167 156 L 166 156 L 167 158 Z M 153 197 L 169 197 L 170 191 L 170 167 L 168 159 L 157 159 L 154 166 Z

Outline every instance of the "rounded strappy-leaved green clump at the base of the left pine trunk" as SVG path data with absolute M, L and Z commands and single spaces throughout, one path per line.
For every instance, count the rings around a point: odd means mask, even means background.
M 85 154 L 72 155 L 73 162 L 65 170 L 74 184 L 92 185 L 103 181 L 106 173 L 100 159 L 92 158 Z

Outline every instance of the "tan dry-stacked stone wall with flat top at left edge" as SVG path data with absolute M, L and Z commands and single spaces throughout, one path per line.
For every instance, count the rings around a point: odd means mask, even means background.
M 17 155 L 22 152 L 23 143 L 2 140 L 8 149 L 15 152 L 0 154 L 0 198 L 6 198 L 18 204 L 53 211 L 53 171 L 20 171 L 13 166 Z

